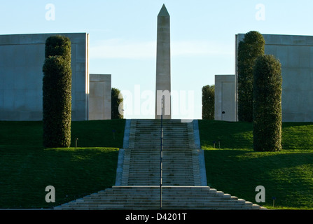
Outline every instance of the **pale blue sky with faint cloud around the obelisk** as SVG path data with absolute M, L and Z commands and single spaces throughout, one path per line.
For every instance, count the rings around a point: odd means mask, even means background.
M 163 3 L 171 16 L 172 118 L 201 119 L 202 87 L 235 73 L 235 34 L 313 36 L 312 0 L 0 0 L 0 34 L 90 34 L 90 73 L 112 75 L 125 118 L 154 118 Z

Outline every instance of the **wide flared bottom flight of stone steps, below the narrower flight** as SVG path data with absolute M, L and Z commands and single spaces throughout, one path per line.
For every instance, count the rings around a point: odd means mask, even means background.
M 58 207 L 56 207 L 57 209 Z M 260 209 L 216 189 L 204 186 L 162 187 L 162 209 Z M 159 186 L 113 186 L 82 199 L 63 204 L 60 209 L 160 209 Z

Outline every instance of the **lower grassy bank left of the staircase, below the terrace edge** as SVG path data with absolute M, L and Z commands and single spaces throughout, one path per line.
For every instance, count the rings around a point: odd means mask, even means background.
M 117 148 L 11 147 L 0 147 L 0 208 L 55 207 L 115 183 Z M 55 203 L 46 202 L 46 186 L 55 187 Z

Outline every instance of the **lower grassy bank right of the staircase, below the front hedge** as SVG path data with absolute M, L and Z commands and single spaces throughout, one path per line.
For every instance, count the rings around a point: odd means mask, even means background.
M 313 151 L 258 153 L 251 150 L 204 151 L 208 185 L 256 203 L 256 186 L 265 187 L 265 203 L 313 209 Z

